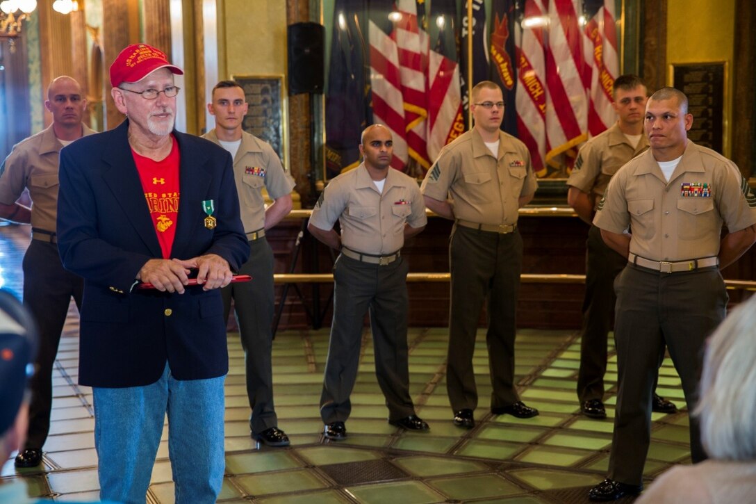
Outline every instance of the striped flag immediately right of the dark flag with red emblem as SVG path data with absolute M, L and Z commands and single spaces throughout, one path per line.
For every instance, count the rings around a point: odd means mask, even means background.
M 522 30 L 515 30 L 517 67 L 517 132 L 530 151 L 533 170 L 546 174 L 546 9 L 541 0 L 527 0 Z

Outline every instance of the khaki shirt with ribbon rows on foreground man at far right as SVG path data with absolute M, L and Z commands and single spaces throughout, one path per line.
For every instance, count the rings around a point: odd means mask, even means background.
M 722 223 L 756 223 L 756 196 L 735 163 L 690 141 L 669 182 L 650 150 L 624 165 L 593 219 L 614 233 L 631 226 L 631 253 L 655 261 L 716 256 Z

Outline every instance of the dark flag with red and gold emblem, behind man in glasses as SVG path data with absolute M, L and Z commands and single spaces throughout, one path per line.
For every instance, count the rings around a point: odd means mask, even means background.
M 513 0 L 493 0 L 491 18 L 491 80 L 501 88 L 505 107 L 501 129 L 517 136 L 516 11 Z

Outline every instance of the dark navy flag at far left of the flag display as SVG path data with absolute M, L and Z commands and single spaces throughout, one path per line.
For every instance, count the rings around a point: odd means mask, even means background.
M 330 179 L 360 163 L 360 135 L 372 123 L 366 45 L 366 0 L 336 0 L 326 94 L 326 173 Z

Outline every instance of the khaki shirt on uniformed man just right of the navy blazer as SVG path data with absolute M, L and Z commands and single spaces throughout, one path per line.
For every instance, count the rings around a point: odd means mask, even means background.
M 215 128 L 202 135 L 210 142 L 218 142 Z M 265 198 L 262 188 L 271 200 L 291 193 L 294 179 L 283 170 L 278 154 L 268 142 L 243 131 L 241 144 L 234 157 L 234 179 L 239 194 L 239 209 L 244 232 L 250 233 L 265 227 Z

